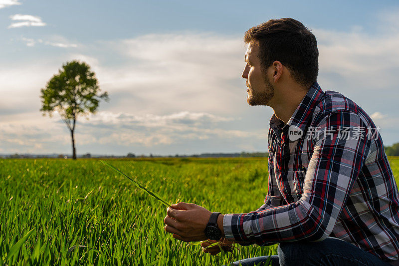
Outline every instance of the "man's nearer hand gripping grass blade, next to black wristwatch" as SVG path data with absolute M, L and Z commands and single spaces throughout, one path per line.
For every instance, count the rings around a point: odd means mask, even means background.
M 191 242 L 206 240 L 204 230 L 212 214 L 196 204 L 180 202 L 168 208 L 165 231 L 175 239 Z

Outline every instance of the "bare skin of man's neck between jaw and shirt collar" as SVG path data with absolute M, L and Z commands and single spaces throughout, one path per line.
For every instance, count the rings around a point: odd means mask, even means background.
M 281 90 L 280 96 L 275 94 L 269 106 L 277 118 L 287 124 L 307 92 L 303 87 Z

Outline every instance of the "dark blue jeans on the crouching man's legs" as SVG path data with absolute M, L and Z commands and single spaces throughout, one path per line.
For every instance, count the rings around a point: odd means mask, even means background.
M 390 266 L 371 253 L 363 251 L 348 242 L 337 238 L 327 238 L 321 242 L 281 243 L 278 255 L 272 255 L 272 266 Z M 268 256 L 234 262 L 234 266 L 263 266 Z

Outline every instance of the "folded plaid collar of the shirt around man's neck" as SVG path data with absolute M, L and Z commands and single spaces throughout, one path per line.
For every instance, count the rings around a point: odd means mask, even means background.
M 302 132 L 305 132 L 306 125 L 323 95 L 324 91 L 319 84 L 317 82 L 313 83 L 291 118 L 288 120 L 288 123 L 285 125 L 283 121 L 273 114 L 270 119 L 270 127 L 275 132 L 281 132 L 282 128 L 295 126 L 300 128 Z M 279 135 L 277 136 L 279 137 Z

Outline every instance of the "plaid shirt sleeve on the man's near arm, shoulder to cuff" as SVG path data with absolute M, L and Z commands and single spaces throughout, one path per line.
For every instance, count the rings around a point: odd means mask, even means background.
M 343 128 L 347 135 L 342 134 Z M 302 197 L 280 207 L 224 215 L 226 238 L 260 246 L 327 238 L 370 150 L 371 141 L 359 128 L 365 128 L 363 121 L 349 110 L 338 110 L 322 118 L 313 137 L 314 151 Z

